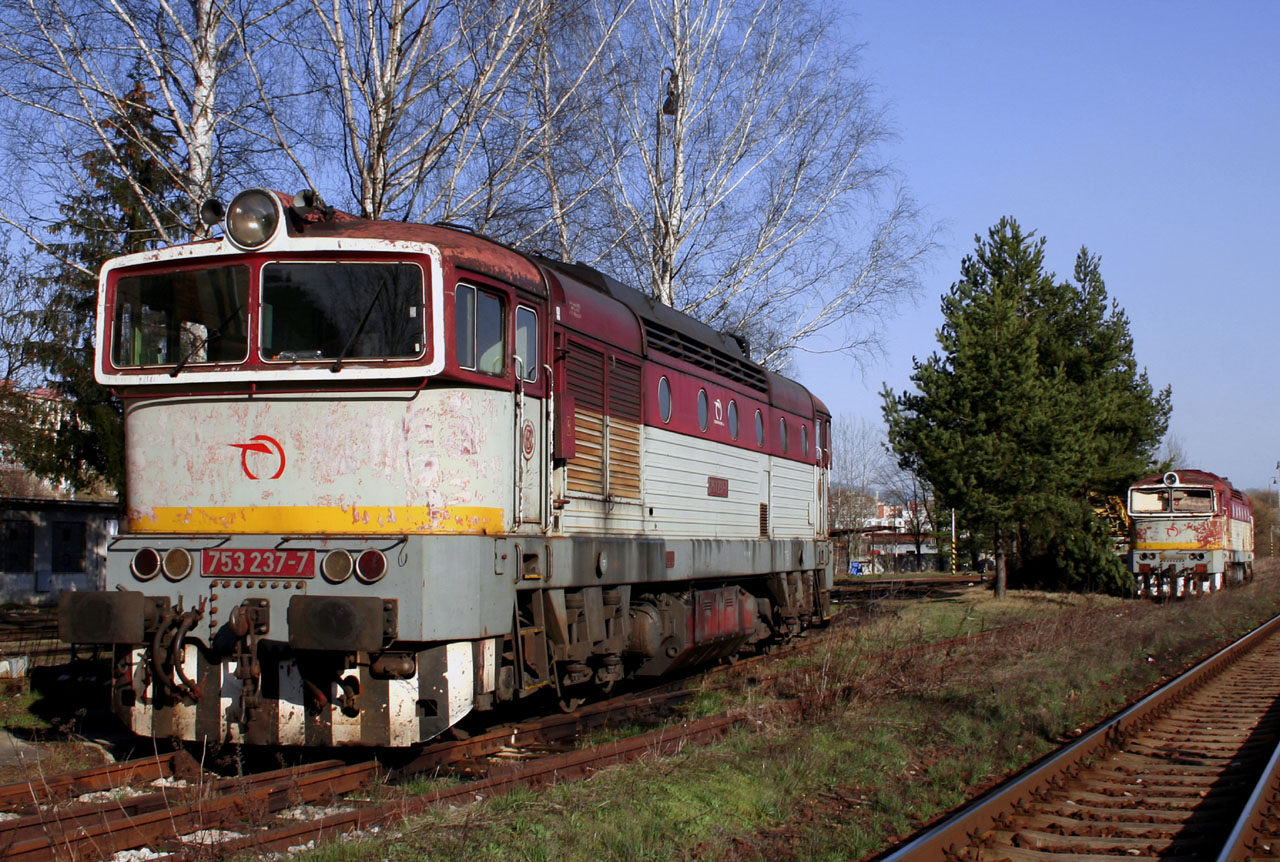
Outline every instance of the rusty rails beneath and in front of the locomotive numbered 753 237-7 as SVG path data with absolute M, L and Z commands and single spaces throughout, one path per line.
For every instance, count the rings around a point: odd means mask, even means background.
M 951 651 L 1023 628 L 993 629 L 918 649 Z M 746 658 L 736 669 L 812 648 L 820 639 L 804 638 L 771 656 Z M 748 684 L 769 679 L 767 674 L 753 674 Z M 591 731 L 669 721 L 675 707 L 695 693 L 691 683 L 668 681 L 568 715 L 540 716 L 439 742 L 419 749 L 411 761 L 394 765 L 323 761 L 221 777 L 178 752 L 3 786 L 0 809 L 8 811 L 10 820 L 0 815 L 0 856 L 38 862 L 105 859 L 128 852 L 134 856 L 116 858 L 287 853 L 352 830 L 389 827 L 431 806 L 465 804 L 517 785 L 573 780 L 621 761 L 675 752 L 690 743 L 713 740 L 748 721 L 742 715 L 718 715 L 575 748 Z M 442 783 L 416 795 L 394 786 L 398 779 L 424 774 L 465 775 L 470 780 Z

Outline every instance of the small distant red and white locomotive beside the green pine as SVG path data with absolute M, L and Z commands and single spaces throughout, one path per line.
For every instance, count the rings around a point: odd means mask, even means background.
M 1253 502 L 1203 470 L 1129 488 L 1129 560 L 1142 596 L 1183 596 L 1253 578 Z

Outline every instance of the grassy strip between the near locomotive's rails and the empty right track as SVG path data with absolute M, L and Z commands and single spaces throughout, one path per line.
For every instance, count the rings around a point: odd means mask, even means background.
M 696 715 L 748 717 L 713 745 L 431 811 L 392 839 L 301 858 L 865 857 L 1271 616 L 1277 588 L 1263 579 L 1164 606 L 983 590 L 904 602 L 788 657 L 781 679 L 699 695 Z M 950 653 L 905 649 L 1025 620 L 1042 622 Z

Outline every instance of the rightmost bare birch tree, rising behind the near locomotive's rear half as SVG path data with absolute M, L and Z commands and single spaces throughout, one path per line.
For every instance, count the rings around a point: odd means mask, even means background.
M 883 156 L 887 126 L 826 9 L 783 0 L 637 0 L 598 81 L 611 170 L 605 261 L 659 302 L 786 362 L 916 286 L 931 247 Z

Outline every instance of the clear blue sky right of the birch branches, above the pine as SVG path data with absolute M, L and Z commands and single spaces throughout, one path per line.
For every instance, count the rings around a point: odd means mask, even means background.
M 1280 1 L 849 3 L 897 140 L 886 154 L 942 232 L 915 307 L 861 365 L 800 357 L 836 415 L 879 423 L 937 345 L 938 298 L 1002 215 L 1050 269 L 1102 256 L 1134 351 L 1171 386 L 1189 464 L 1270 487 L 1280 460 Z

